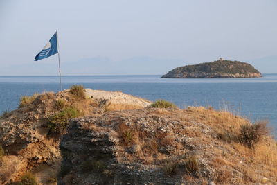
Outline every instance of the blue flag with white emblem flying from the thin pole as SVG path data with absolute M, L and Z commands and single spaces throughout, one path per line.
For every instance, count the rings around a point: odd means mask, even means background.
M 48 58 L 51 55 L 55 55 L 57 53 L 57 32 L 51 37 L 49 42 L 44 46 L 42 51 L 40 51 L 35 56 L 35 61 L 42 60 L 44 58 Z

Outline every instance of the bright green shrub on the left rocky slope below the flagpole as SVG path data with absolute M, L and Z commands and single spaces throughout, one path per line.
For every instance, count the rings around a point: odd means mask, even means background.
M 54 114 L 48 118 L 48 127 L 51 132 L 62 132 L 69 122 L 70 118 L 80 116 L 80 112 L 76 107 L 66 107 L 62 112 Z

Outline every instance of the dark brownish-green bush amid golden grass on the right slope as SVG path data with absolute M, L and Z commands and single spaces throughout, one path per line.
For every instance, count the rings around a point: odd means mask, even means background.
M 262 136 L 269 133 L 267 123 L 267 121 L 260 121 L 254 124 L 242 125 L 240 127 L 240 136 L 238 136 L 240 143 L 249 148 L 255 147 Z

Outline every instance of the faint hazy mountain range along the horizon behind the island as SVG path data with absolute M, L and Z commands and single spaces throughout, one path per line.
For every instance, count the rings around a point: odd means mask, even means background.
M 196 63 L 183 59 L 162 59 L 138 56 L 125 60 L 111 60 L 107 57 L 84 58 L 64 61 L 61 58 L 62 75 L 146 75 L 162 74 L 176 66 Z M 256 67 L 261 73 L 277 73 L 277 56 L 244 60 Z M 24 62 L 23 64 L 3 63 L 0 76 L 25 75 L 47 76 L 58 75 L 58 64 L 55 56 L 46 60 Z

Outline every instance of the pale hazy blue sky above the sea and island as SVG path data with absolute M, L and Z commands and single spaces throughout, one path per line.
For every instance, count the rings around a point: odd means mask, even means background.
M 276 0 L 0 0 L 0 76 L 58 75 L 34 61 L 57 30 L 63 75 L 164 74 L 222 57 L 277 73 Z

